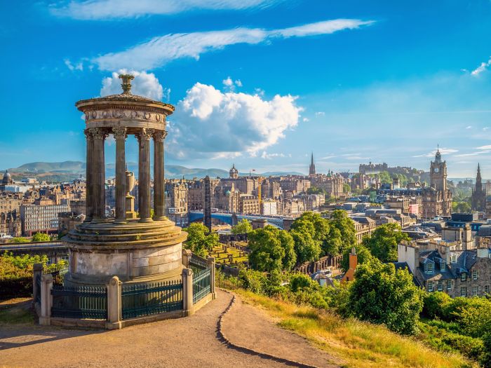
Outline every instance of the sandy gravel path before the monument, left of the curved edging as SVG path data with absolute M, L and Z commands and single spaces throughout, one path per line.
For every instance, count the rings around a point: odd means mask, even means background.
M 217 321 L 231 297 L 218 290 L 217 299 L 191 317 L 115 331 L 3 325 L 0 367 L 284 367 L 217 339 Z

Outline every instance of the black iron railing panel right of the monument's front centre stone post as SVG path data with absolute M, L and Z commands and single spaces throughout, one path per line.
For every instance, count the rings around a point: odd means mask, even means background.
M 182 280 L 123 285 L 123 320 L 183 309 Z

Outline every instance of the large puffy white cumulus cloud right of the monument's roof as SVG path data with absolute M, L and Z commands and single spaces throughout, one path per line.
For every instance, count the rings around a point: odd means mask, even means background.
M 298 124 L 302 107 L 295 100 L 263 100 L 196 83 L 169 117 L 168 152 L 177 158 L 257 156 Z

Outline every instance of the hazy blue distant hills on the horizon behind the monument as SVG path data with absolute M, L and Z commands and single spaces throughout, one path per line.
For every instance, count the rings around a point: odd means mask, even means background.
M 138 175 L 138 164 L 128 162 L 128 170 L 135 172 Z M 114 177 L 115 164 L 106 164 L 106 176 Z M 153 170 L 153 168 L 152 168 Z M 3 170 L 4 171 L 4 170 Z M 20 179 L 23 176 L 39 177 L 42 180 L 50 182 L 70 181 L 78 178 L 80 175 L 85 176 L 86 163 L 81 161 L 63 161 L 55 163 L 35 162 L 25 163 L 18 168 L 9 168 L 9 172 L 14 179 Z M 193 179 L 194 177 L 201 178 L 209 175 L 210 177 L 229 177 L 228 170 L 222 169 L 203 169 L 203 168 L 186 168 L 180 165 L 166 165 L 166 178 L 168 179 Z M 241 173 L 241 176 L 249 175 L 249 173 Z M 257 174 L 255 174 L 257 175 Z M 270 175 L 302 175 L 300 172 L 264 172 L 262 176 Z

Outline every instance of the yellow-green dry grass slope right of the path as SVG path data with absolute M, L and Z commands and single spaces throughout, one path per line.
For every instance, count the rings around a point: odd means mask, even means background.
M 300 334 L 314 345 L 346 362 L 345 367 L 477 367 L 459 355 L 426 348 L 415 339 L 383 326 L 342 320 L 327 311 L 238 291 L 244 301 L 260 306 L 278 325 Z

